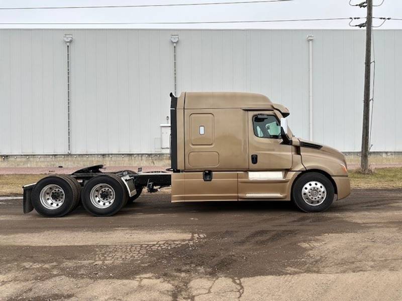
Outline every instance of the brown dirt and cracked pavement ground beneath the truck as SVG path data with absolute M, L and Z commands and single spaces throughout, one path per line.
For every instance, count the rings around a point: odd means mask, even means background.
M 64 218 L 0 201 L 1 300 L 400 300 L 402 190 L 325 213 L 288 202 L 171 204 Z

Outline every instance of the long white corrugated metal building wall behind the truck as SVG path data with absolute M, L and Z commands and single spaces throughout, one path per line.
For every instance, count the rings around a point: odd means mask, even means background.
M 70 52 L 68 142 L 67 46 Z M 177 93 L 250 91 L 291 112 L 301 137 L 361 144 L 362 30 L 0 30 L 0 154 L 150 154 Z M 309 41 L 313 115 L 309 114 Z M 402 31 L 376 30 L 372 150 L 402 151 Z M 70 149 L 69 149 L 70 148 Z

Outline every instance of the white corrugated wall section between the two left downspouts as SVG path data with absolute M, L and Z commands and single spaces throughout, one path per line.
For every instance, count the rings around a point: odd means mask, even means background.
M 74 31 L 72 152 L 152 153 L 172 90 L 170 36 L 160 31 Z

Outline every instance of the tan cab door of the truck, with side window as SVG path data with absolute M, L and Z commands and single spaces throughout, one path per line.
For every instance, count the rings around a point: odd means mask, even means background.
M 280 121 L 273 111 L 248 111 L 249 170 L 287 170 L 292 146 L 281 144 Z

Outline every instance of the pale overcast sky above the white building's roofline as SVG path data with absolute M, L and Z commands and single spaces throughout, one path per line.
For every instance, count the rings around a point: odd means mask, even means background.
M 236 23 L 236 24 L 131 24 L 88 25 L 82 23 L 116 22 L 213 22 L 288 20 L 315 18 L 364 17 L 366 10 L 349 6 L 349 0 L 293 0 L 285 2 L 206 5 L 185 7 L 143 8 L 98 8 L 98 9 L 52 9 L 52 10 L 2 10 L 16 7 L 60 7 L 60 6 L 108 6 L 142 4 L 211 3 L 241 0 L 0 0 L 0 23 L 81 23 L 78 25 L 5 25 L 0 28 L 197 28 L 197 29 L 352 29 L 349 20 L 280 22 L 280 23 Z M 351 0 L 357 4 L 363 0 Z M 373 0 L 374 5 L 382 0 Z M 402 0 L 384 0 L 375 7 L 374 17 L 402 19 Z M 359 24 L 364 20 L 355 20 Z M 381 20 L 374 20 L 379 25 Z M 402 21 L 389 20 L 381 29 L 402 29 Z

